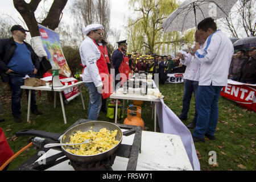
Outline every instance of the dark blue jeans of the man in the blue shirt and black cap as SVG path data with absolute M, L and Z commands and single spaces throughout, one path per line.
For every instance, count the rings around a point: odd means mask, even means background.
M 28 74 L 30 77 L 35 77 L 34 73 Z M 13 74 L 10 73 L 10 87 L 11 87 L 11 113 L 13 114 L 13 117 L 19 117 L 20 112 L 20 100 L 22 98 L 23 89 L 20 88 L 20 86 L 24 85 L 24 78 L 25 75 L 19 75 L 19 74 Z M 27 99 L 28 99 L 28 90 L 26 90 Z M 36 106 L 36 96 L 35 96 L 35 90 L 31 90 L 31 107 L 30 110 L 36 111 L 38 110 L 38 106 Z

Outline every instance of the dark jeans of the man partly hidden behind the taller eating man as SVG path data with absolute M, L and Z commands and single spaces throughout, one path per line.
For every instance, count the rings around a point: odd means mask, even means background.
M 188 111 L 190 107 L 192 93 L 194 93 L 194 96 L 195 96 L 195 108 L 196 108 L 196 94 L 197 94 L 198 84 L 199 84 L 198 81 L 184 79 L 182 110 L 180 114 L 182 118 L 188 118 Z M 197 118 L 197 111 L 195 109 L 195 117 L 193 119 L 193 123 L 196 123 L 196 118 Z

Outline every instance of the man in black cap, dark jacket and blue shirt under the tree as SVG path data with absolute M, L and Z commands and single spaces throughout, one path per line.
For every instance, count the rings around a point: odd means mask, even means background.
M 14 122 L 22 122 L 20 117 L 20 100 L 22 98 L 22 89 L 24 77 L 35 77 L 39 69 L 39 57 L 36 55 L 30 44 L 24 42 L 26 32 L 22 26 L 14 25 L 11 27 L 12 38 L 0 40 L 0 75 L 8 76 L 7 80 L 11 87 L 11 112 Z M 28 96 L 28 90 L 26 90 Z M 36 106 L 35 90 L 31 92 L 31 112 L 36 115 L 43 114 Z

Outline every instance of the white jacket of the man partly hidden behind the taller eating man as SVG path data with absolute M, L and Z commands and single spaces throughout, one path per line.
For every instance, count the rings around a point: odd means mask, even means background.
M 201 49 L 202 48 L 203 45 L 201 46 Z M 180 59 L 180 62 L 187 66 L 183 78 L 192 81 L 199 81 L 200 64 L 196 63 L 195 56 L 187 53 L 187 57 L 185 57 L 184 60 Z

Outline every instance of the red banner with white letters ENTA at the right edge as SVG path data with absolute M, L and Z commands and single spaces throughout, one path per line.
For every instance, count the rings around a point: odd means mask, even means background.
M 238 105 L 256 112 L 256 85 L 243 84 L 241 82 L 229 80 L 228 86 L 221 90 L 221 96 L 228 98 Z

